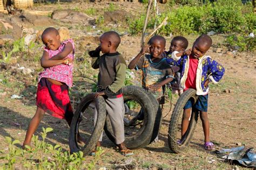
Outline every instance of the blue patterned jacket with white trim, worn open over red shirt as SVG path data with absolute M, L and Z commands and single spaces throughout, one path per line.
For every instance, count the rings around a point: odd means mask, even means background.
M 185 82 L 187 79 L 189 60 L 190 57 L 185 55 L 179 60 L 174 60 L 171 58 L 167 59 L 170 65 L 179 66 L 181 70 L 181 86 L 185 89 Z M 197 67 L 197 77 L 196 77 L 196 90 L 197 95 L 206 95 L 208 93 L 209 87 L 205 87 L 205 81 L 208 79 L 210 82 L 218 83 L 223 77 L 225 69 L 215 60 L 212 60 L 210 56 L 201 56 L 198 61 Z

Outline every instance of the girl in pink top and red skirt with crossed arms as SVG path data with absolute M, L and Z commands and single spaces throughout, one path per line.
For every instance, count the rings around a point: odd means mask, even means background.
M 39 74 L 37 87 L 37 110 L 30 121 L 23 147 L 31 143 L 33 133 L 44 117 L 45 112 L 71 124 L 73 111 L 69 99 L 69 87 L 72 87 L 73 58 L 75 45 L 72 39 L 60 42 L 58 31 L 49 27 L 42 34 L 45 45 L 41 58 L 43 72 Z M 78 136 L 78 142 L 83 139 Z

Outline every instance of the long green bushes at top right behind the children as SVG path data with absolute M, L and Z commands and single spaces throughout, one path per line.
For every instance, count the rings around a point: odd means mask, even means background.
M 173 1 L 171 1 L 173 3 Z M 176 1 L 175 1 L 176 2 Z M 185 1 L 183 1 L 185 2 Z M 192 2 L 192 1 L 191 1 Z M 194 1 L 196 2 L 196 1 Z M 186 1 L 188 3 L 188 1 Z M 158 33 L 169 35 L 207 33 L 250 33 L 255 31 L 256 16 L 252 5 L 242 5 L 240 0 L 219 0 L 204 5 L 184 5 L 178 9 L 171 9 L 161 13 L 158 18 L 150 17 L 148 28 L 153 29 L 154 21 L 157 23 L 168 17 L 167 25 L 161 27 Z M 129 30 L 131 34 L 142 31 L 145 15 L 130 19 Z

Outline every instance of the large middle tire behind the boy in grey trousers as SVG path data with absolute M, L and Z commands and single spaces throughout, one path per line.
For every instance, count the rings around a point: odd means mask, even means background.
M 136 132 L 134 131 L 131 132 L 132 125 L 127 125 L 127 123 L 125 122 L 126 118 L 124 118 L 125 145 L 127 148 L 130 148 L 130 149 L 145 147 L 151 143 L 153 138 L 152 133 L 153 133 L 157 109 L 158 109 L 158 104 L 156 103 L 157 101 L 154 101 L 156 100 L 155 98 L 153 98 L 154 100 L 152 100 L 152 98 L 143 88 L 140 88 L 137 86 L 123 87 L 122 94 L 124 98 L 124 103 L 132 101 L 132 102 L 136 102 L 137 105 L 139 105 L 139 108 L 136 111 L 137 116 L 138 116 L 138 113 L 140 112 L 140 109 L 142 109 L 144 112 L 144 118 L 142 121 L 138 121 L 136 119 L 136 116 L 134 116 L 134 119 L 135 119 L 134 125 L 137 124 L 137 126 L 134 126 L 133 128 L 137 128 Z M 129 123 L 131 122 L 132 121 L 130 120 Z M 104 130 L 107 137 L 109 137 L 109 139 L 113 143 L 115 143 L 112 125 L 110 123 L 109 116 L 106 116 L 106 123 L 104 126 Z

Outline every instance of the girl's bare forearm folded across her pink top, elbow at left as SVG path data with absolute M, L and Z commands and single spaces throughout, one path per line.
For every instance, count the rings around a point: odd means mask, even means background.
M 68 64 L 72 60 L 70 58 L 65 59 L 65 60 L 49 60 L 49 53 L 44 51 L 43 56 L 41 58 L 41 66 L 43 68 L 47 67 L 53 67 L 61 64 Z

